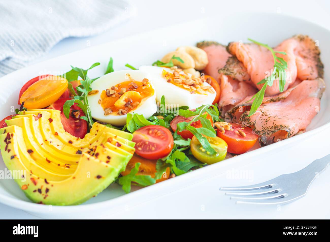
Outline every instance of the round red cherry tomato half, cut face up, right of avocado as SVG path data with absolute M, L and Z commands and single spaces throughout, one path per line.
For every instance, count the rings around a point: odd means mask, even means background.
M 174 145 L 171 132 L 160 125 L 148 125 L 133 133 L 135 152 L 150 160 L 168 155 Z

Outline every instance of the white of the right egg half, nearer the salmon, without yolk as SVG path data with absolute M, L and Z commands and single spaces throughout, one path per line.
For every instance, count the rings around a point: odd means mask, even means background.
M 166 78 L 162 75 L 163 70 L 171 71 L 170 68 L 165 67 L 155 67 L 155 66 L 141 66 L 139 70 L 144 71 L 148 74 L 148 79 L 154 86 L 156 92 L 156 101 L 160 103 L 162 95 L 165 96 L 165 104 L 169 105 L 178 105 L 188 106 L 189 109 L 194 109 L 202 105 L 211 104 L 216 96 L 215 90 L 214 93 L 203 94 L 191 94 L 189 91 L 180 88 L 172 83 L 167 82 Z M 191 76 L 190 74 L 188 74 Z M 202 87 L 210 86 L 207 82 L 204 82 Z

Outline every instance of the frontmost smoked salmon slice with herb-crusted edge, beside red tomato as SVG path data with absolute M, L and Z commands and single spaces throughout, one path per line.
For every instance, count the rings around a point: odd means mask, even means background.
M 265 97 L 248 117 L 250 96 L 228 111 L 225 121 L 252 125 L 253 132 L 260 136 L 260 146 L 269 145 L 304 131 L 320 109 L 324 90 L 323 79 L 304 80 L 281 94 Z

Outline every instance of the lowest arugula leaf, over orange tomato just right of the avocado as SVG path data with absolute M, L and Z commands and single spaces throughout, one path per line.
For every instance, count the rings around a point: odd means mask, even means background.
M 129 193 L 131 191 L 132 182 L 137 183 L 139 186 L 149 186 L 156 183 L 156 179 L 150 175 L 136 175 L 139 172 L 141 163 L 135 163 L 135 167 L 131 170 L 130 174 L 118 178 L 118 182 L 122 185 L 122 189 Z

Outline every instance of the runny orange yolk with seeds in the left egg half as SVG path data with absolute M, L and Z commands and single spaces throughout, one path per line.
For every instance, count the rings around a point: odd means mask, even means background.
M 99 103 L 104 109 L 104 115 L 127 114 L 154 94 L 147 78 L 142 82 L 136 81 L 130 76 L 129 78 L 129 81 L 121 82 L 102 91 Z

